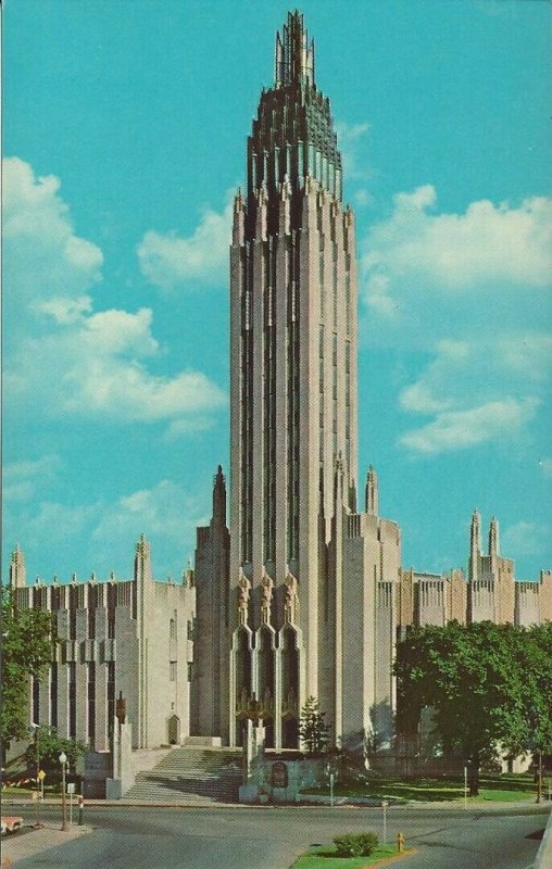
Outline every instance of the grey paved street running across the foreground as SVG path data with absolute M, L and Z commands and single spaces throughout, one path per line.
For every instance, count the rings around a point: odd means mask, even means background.
M 43 817 L 52 823 L 59 809 L 45 806 Z M 523 815 L 396 808 L 387 829 L 417 851 L 406 869 L 529 869 L 547 819 L 534 807 Z M 24 859 L 13 840 L 3 855 L 17 869 L 288 869 L 306 845 L 337 832 L 382 832 L 380 809 L 354 807 L 89 807 L 85 820 L 95 828 L 88 835 Z

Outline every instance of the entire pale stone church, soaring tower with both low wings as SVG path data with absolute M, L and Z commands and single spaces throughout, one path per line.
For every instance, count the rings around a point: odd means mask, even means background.
M 375 468 L 359 476 L 355 228 L 342 189 L 314 43 L 289 13 L 234 202 L 229 503 L 218 467 L 195 570 L 178 582 L 153 580 L 143 537 L 124 581 L 29 587 L 14 551 L 16 604 L 54 612 L 62 641 L 29 687 L 29 721 L 106 751 L 123 693 L 135 748 L 189 735 L 239 746 L 251 719 L 268 747 L 294 748 L 314 696 L 336 745 L 389 745 L 394 644 L 410 626 L 552 619 L 552 572 L 517 581 L 497 519 L 484 552 L 474 513 L 467 576 L 407 569 Z

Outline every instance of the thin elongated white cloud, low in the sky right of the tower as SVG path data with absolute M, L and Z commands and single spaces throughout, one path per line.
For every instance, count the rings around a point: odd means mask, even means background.
M 407 431 L 400 443 L 418 453 L 436 454 L 512 438 L 535 416 L 538 404 L 535 399 L 504 399 L 462 411 L 443 411 L 432 423 Z

